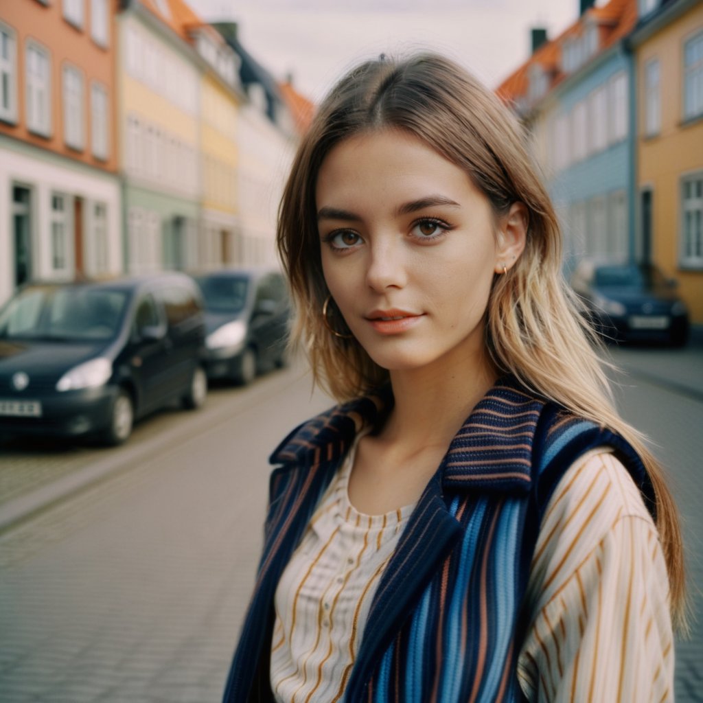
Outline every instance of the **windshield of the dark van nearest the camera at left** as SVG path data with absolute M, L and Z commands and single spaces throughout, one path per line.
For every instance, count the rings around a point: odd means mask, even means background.
M 127 293 L 90 286 L 32 286 L 0 311 L 0 338 L 101 342 L 117 335 Z

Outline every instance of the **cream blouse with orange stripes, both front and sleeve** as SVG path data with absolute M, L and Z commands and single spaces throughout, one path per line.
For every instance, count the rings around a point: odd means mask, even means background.
M 412 506 L 361 515 L 353 453 L 276 591 L 271 686 L 279 703 L 342 699 L 368 608 Z M 579 458 L 541 526 L 517 676 L 530 701 L 673 700 L 669 588 L 657 530 L 607 449 Z

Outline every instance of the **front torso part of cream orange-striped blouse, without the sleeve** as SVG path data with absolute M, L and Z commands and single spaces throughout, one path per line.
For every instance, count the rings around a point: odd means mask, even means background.
M 380 576 L 415 507 L 358 512 L 347 491 L 355 449 L 276 589 L 271 688 L 279 703 L 342 698 Z

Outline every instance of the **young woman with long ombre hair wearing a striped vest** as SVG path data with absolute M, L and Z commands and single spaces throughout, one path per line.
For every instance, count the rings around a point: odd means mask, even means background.
M 681 538 L 520 127 L 449 60 L 318 111 L 278 244 L 340 401 L 273 453 L 225 700 L 664 701 Z

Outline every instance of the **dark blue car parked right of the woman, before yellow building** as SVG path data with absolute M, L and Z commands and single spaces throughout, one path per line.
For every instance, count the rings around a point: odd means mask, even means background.
M 688 309 L 676 283 L 654 264 L 582 261 L 572 276 L 595 327 L 606 340 L 668 342 L 688 340 Z

